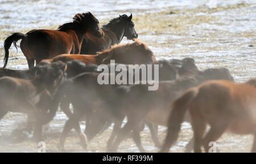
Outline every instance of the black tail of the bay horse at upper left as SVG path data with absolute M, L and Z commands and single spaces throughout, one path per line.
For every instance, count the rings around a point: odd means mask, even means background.
M 6 67 L 8 59 L 9 59 L 9 49 L 11 47 L 11 44 L 14 44 L 16 50 L 18 51 L 18 46 L 17 46 L 17 41 L 20 39 L 23 39 L 24 37 L 27 37 L 27 34 L 23 34 L 23 33 L 13 33 L 11 36 L 7 37 L 4 43 L 4 47 L 5 47 L 5 58 L 3 59 L 3 62 L 5 63 L 3 68 Z

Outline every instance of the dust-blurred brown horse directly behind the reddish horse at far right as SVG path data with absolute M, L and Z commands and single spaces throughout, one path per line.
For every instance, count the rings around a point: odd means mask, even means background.
M 135 144 L 141 152 L 144 152 L 139 136 L 139 123 L 147 120 L 148 122 L 167 126 L 171 102 L 186 89 L 211 79 L 233 80 L 233 77 L 228 69 L 215 68 L 202 71 L 197 76 L 183 77 L 175 81 L 159 81 L 159 88 L 154 91 L 148 90 L 146 85 L 121 87 L 119 92 L 123 92 L 121 94 L 123 96 L 119 96 L 119 99 L 122 97 L 124 106 L 122 110 L 127 116 L 127 123 L 122 129 L 119 129 L 122 122 L 120 122 L 120 119 L 119 122 L 115 122 L 112 136 L 108 142 L 108 152 L 115 152 L 121 141 L 131 131 L 133 131 L 136 139 L 134 140 Z

